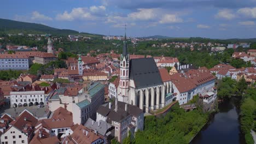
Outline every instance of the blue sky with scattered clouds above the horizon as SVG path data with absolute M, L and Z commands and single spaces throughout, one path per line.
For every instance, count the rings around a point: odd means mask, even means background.
M 256 38 L 256 0 L 8 0 L 0 18 L 104 35 Z

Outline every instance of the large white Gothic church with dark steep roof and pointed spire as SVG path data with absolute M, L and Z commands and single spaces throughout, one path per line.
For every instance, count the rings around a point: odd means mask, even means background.
M 144 112 L 164 107 L 165 96 L 171 93 L 172 82 L 171 80 L 163 82 L 154 58 L 130 59 L 126 33 L 118 80 L 116 94 L 118 100 L 136 105 Z

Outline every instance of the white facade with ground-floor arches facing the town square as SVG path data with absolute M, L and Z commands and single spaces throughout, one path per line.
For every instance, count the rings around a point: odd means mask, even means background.
M 10 106 L 44 105 L 44 91 L 10 92 Z

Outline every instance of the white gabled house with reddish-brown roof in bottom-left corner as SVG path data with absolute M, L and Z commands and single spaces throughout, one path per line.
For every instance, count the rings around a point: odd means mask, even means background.
M 16 121 L 11 122 L 10 127 L 1 135 L 2 143 L 30 143 L 33 138 L 34 127 L 37 123 L 32 113 L 24 110 Z

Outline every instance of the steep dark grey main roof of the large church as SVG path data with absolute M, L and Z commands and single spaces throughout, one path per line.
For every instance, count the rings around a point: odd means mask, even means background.
M 162 79 L 154 58 L 137 58 L 130 60 L 130 79 L 136 88 L 161 85 Z

